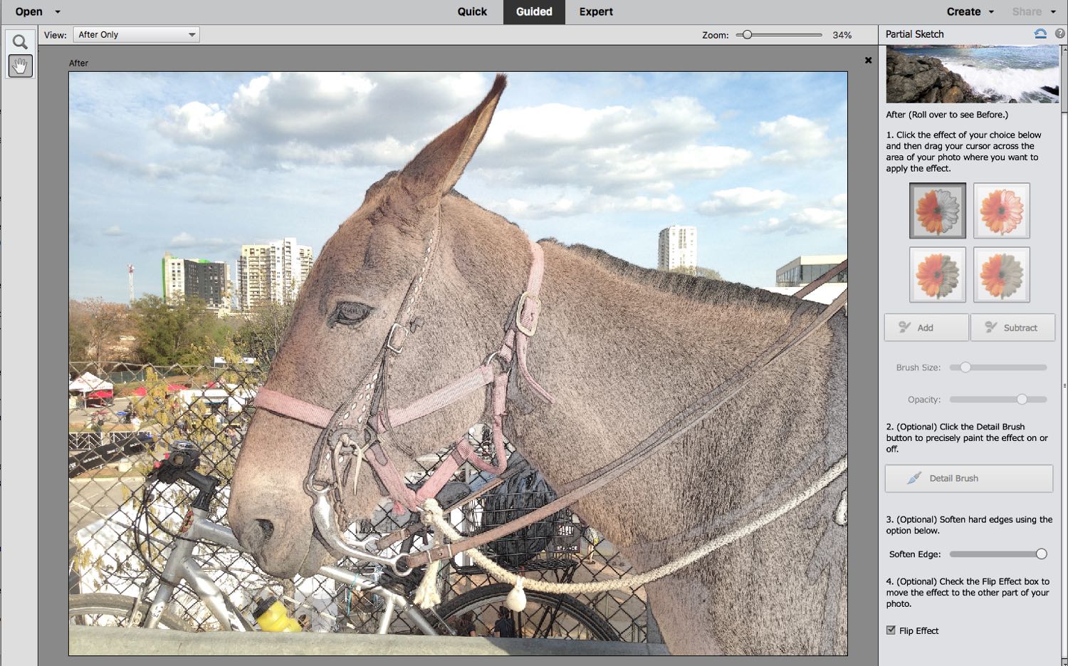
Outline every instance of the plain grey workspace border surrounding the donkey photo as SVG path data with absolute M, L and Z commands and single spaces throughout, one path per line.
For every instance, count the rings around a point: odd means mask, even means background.
M 865 58 L 871 58 L 866 63 Z M 849 269 L 849 440 L 852 492 L 849 498 L 849 654 L 843 657 L 716 657 L 717 664 L 781 665 L 804 660 L 818 664 L 874 664 L 878 660 L 877 604 L 877 294 L 876 234 L 878 175 L 878 83 L 883 76 L 878 48 L 869 46 L 41 46 L 38 51 L 38 317 L 40 376 L 66 372 L 65 347 L 69 217 L 67 206 L 67 81 L 70 60 L 88 60 L 78 72 L 264 72 L 341 71 L 337 63 L 360 63 L 364 71 L 502 72 L 847 72 L 848 73 L 848 253 Z M 67 505 L 65 396 L 57 385 L 38 389 L 38 659 L 57 664 L 67 656 L 54 628 L 66 625 Z M 867 481 L 867 482 L 865 482 Z M 143 657 L 76 657 L 79 664 L 113 665 Z M 157 657 L 180 663 L 186 656 Z M 214 657 L 194 657 L 203 663 Z M 224 657 L 260 663 L 263 657 Z M 283 659 L 283 657 L 276 657 Z M 320 657 L 350 663 L 351 657 Z M 375 659 L 375 657 L 370 657 Z M 417 657 L 403 657 L 415 661 Z M 466 663 L 470 657 L 436 656 Z M 516 657 L 519 663 L 537 657 Z M 584 657 L 590 661 L 591 657 Z M 595 657 L 594 662 L 612 657 Z M 709 657 L 678 657 L 686 661 Z M 222 661 L 221 659 L 219 661 Z

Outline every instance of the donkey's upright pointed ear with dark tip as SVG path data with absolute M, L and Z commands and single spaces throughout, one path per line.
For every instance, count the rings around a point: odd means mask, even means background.
M 426 144 L 415 158 L 400 172 L 407 187 L 421 195 L 443 195 L 460 180 L 464 169 L 486 136 L 493 109 L 501 99 L 507 79 L 498 74 L 489 94 L 468 113 L 441 135 Z

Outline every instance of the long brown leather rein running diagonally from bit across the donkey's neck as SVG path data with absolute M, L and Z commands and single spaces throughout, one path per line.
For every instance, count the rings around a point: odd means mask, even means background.
M 639 463 L 648 460 L 650 455 L 659 451 L 663 446 L 675 442 L 685 435 L 691 428 L 723 406 L 728 400 L 737 396 L 742 388 L 758 376 L 760 372 L 775 359 L 782 357 L 784 354 L 808 339 L 810 336 L 830 321 L 830 319 L 846 305 L 846 300 L 848 298 L 847 294 L 848 290 L 844 291 L 830 306 L 820 312 L 819 315 L 817 315 L 816 319 L 804 328 L 804 330 L 791 338 L 785 345 L 778 350 L 769 350 L 765 352 L 765 354 L 763 354 L 754 362 L 750 363 L 741 372 L 719 385 L 709 393 L 706 393 L 695 404 L 678 413 L 669 422 L 681 422 L 673 429 L 670 429 L 663 435 L 658 437 L 657 435 L 660 432 L 658 430 L 658 432 L 653 433 L 644 442 L 627 453 L 615 459 L 608 465 L 585 475 L 577 481 L 565 484 L 564 489 L 572 490 L 562 489 L 562 494 L 555 500 L 514 521 L 505 523 L 504 525 L 493 529 L 489 529 L 480 535 L 409 555 L 405 558 L 404 566 L 414 569 L 431 561 L 450 559 L 455 553 L 486 545 L 497 539 L 518 531 L 523 527 L 533 525 L 534 523 L 561 511 L 562 509 L 566 509 L 579 499 L 582 499 L 591 493 L 600 490 L 608 483 L 618 479 Z M 717 394 L 718 398 L 709 403 L 708 400 Z

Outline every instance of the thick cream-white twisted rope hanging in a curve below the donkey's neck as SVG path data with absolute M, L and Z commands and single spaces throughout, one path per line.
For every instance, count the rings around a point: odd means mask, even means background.
M 713 551 L 722 548 L 725 545 L 734 543 L 739 539 L 748 537 L 749 535 L 760 529 L 765 525 L 775 521 L 785 513 L 796 509 L 798 506 L 803 504 L 805 500 L 810 499 L 813 495 L 826 489 L 831 484 L 832 481 L 837 479 L 845 473 L 846 468 L 849 466 L 848 455 L 843 456 L 833 467 L 828 469 L 816 479 L 816 482 L 810 485 L 807 489 L 802 491 L 799 495 L 792 497 L 786 504 L 765 513 L 760 517 L 756 518 L 752 523 L 739 527 L 738 529 L 732 530 L 725 535 L 717 537 L 711 541 L 705 543 L 704 545 L 691 551 L 690 553 L 679 557 L 678 559 L 672 560 L 665 564 L 661 564 L 656 569 L 650 569 L 645 573 L 624 576 L 616 580 L 597 580 L 593 583 L 552 583 L 549 580 L 539 580 L 536 578 L 523 578 L 522 576 L 517 576 L 516 574 L 502 569 L 497 562 L 492 561 L 488 557 L 482 554 L 477 548 L 471 548 L 466 551 L 471 558 L 478 563 L 480 567 L 485 569 L 489 574 L 491 574 L 498 580 L 503 580 L 505 583 L 512 583 L 516 585 L 518 589 L 527 588 L 535 590 L 538 592 L 551 592 L 555 594 L 590 594 L 594 592 L 607 592 L 610 590 L 624 590 L 629 588 L 638 588 L 654 580 L 663 578 L 664 576 L 670 576 L 679 569 L 688 567 L 698 559 L 711 554 Z M 425 517 L 428 517 L 429 522 L 440 530 L 445 537 L 454 541 L 459 540 L 461 537 L 453 526 L 445 521 L 445 517 L 441 511 L 441 507 L 431 497 L 423 502 L 422 512 Z M 839 521 L 841 517 L 841 521 Z M 846 520 L 846 495 L 843 494 L 842 500 L 838 504 L 838 508 L 834 515 L 835 523 L 839 525 L 845 524 Z M 429 570 L 429 568 L 428 568 Z M 518 585 L 517 585 L 518 584 Z M 515 592 L 515 590 L 513 590 Z M 422 608 L 429 608 L 433 606 L 421 606 Z

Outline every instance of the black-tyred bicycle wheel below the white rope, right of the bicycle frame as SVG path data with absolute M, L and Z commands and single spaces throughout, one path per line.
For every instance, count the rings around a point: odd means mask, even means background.
M 450 599 L 436 608 L 437 614 L 450 625 L 465 613 L 474 613 L 474 623 L 480 636 L 489 635 L 497 621 L 497 609 L 512 586 L 500 583 L 476 588 Z M 523 590 L 527 607 L 513 614 L 519 638 L 571 638 L 575 640 L 622 640 L 618 632 L 604 618 L 569 594 L 549 594 Z M 447 633 L 444 628 L 442 633 Z

